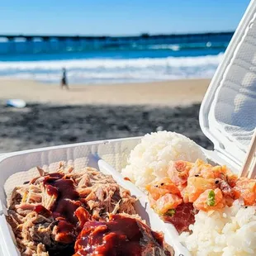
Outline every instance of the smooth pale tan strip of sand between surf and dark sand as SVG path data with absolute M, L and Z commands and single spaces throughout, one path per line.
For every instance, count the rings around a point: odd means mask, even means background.
M 57 84 L 27 80 L 0 80 L 0 100 L 21 98 L 26 102 L 62 105 L 157 105 L 187 106 L 200 103 L 208 79 L 173 80 L 156 83 L 125 83 L 108 85 L 70 85 L 61 90 Z

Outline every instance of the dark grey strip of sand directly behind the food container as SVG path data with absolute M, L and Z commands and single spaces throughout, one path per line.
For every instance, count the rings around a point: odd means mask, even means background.
M 0 105 L 0 153 L 141 136 L 156 130 L 182 133 L 212 149 L 199 126 L 199 107 L 31 104 L 15 109 Z

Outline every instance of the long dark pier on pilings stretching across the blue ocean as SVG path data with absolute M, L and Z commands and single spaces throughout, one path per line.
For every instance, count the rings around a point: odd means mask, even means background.
M 78 36 L 78 35 L 0 35 L 1 42 L 7 43 L 6 50 L 0 54 L 16 53 L 40 53 L 51 51 L 63 51 L 70 45 L 75 45 L 76 50 L 115 48 L 122 45 L 135 44 L 181 44 L 197 42 L 214 42 L 216 38 L 230 40 L 234 31 L 194 33 L 194 34 L 170 34 L 149 35 L 143 33 L 140 36 Z M 19 44 L 25 42 L 26 44 Z

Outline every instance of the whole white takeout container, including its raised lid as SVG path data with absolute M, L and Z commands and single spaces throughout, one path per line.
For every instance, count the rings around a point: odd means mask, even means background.
M 207 158 L 226 164 L 238 172 L 256 126 L 256 1 L 249 4 L 224 59 L 211 80 L 201 104 L 201 130 L 214 143 L 214 150 L 203 149 Z M 116 182 L 139 198 L 136 210 L 153 230 L 164 232 L 175 255 L 189 255 L 178 242 L 178 233 L 165 224 L 149 207 L 145 194 L 121 178 L 121 168 L 140 138 L 104 140 L 0 155 L 0 255 L 20 255 L 11 227 L 7 224 L 7 195 L 12 188 L 37 175 L 35 166 L 54 170 L 59 161 L 74 168 L 91 166 L 111 173 Z M 32 168 L 32 169 L 31 169 Z M 28 173 L 27 170 L 31 169 Z M 31 175 L 31 176 L 30 176 Z

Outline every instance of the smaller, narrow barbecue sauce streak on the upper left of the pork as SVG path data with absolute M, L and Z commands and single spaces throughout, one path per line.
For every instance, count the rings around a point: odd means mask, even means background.
M 44 176 L 45 191 L 50 197 L 56 197 L 50 211 L 44 206 L 36 206 L 34 211 L 43 216 L 53 216 L 58 220 L 55 239 L 64 244 L 73 243 L 91 216 L 82 206 L 73 180 L 62 173 L 50 173 Z

